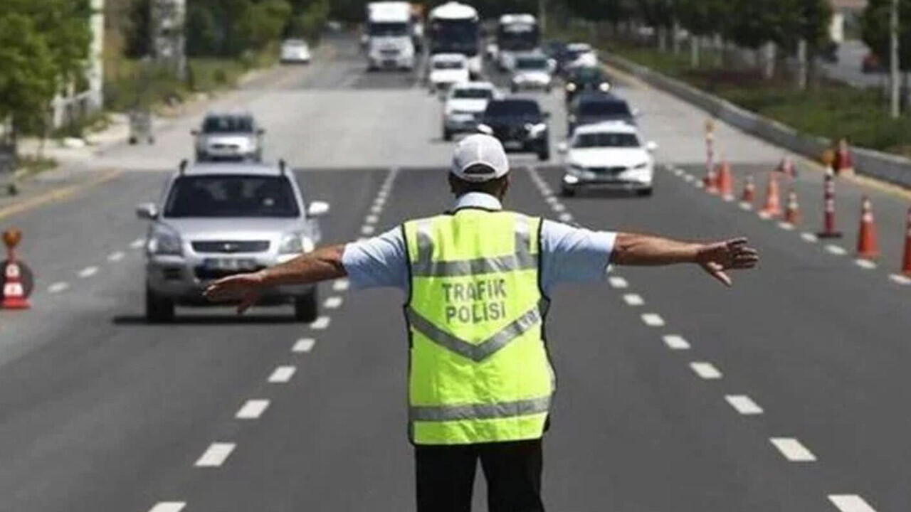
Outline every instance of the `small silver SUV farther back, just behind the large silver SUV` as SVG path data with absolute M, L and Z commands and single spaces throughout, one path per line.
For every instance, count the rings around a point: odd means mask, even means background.
M 196 138 L 197 161 L 262 159 L 260 128 L 249 113 L 209 113 L 200 129 L 190 133 Z

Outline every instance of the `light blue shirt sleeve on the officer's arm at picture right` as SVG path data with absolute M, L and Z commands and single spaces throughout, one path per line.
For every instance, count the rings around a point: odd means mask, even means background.
M 544 220 L 541 225 L 541 288 L 560 282 L 600 282 L 609 270 L 617 233 Z

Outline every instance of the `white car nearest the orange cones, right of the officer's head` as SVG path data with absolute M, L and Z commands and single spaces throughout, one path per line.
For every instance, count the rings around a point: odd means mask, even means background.
M 558 150 L 565 155 L 564 196 L 579 189 L 619 189 L 650 196 L 654 179 L 654 142 L 642 144 L 639 130 L 623 121 L 576 128 Z

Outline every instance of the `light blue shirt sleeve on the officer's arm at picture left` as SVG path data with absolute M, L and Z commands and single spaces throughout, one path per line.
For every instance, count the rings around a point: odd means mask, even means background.
M 398 288 L 407 293 L 408 253 L 402 228 L 388 230 L 364 241 L 345 245 L 342 266 L 352 288 Z

